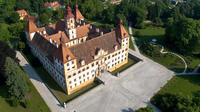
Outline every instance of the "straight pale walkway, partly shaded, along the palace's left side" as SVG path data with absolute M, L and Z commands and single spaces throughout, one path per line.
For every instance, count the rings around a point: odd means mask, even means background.
M 66 112 L 60 105 L 55 96 L 46 87 L 40 76 L 33 69 L 33 67 L 26 61 L 20 52 L 16 52 L 16 57 L 20 60 L 20 66 L 28 74 L 30 81 L 33 83 L 41 97 L 44 99 L 47 106 L 52 112 Z

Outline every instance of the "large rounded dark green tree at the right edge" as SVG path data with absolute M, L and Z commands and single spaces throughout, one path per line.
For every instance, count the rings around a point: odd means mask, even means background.
M 166 29 L 169 47 L 180 53 L 192 53 L 200 46 L 200 21 L 181 17 Z

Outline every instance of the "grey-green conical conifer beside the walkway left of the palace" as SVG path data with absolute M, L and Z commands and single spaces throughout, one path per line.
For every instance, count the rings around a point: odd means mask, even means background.
M 19 100 L 23 99 L 29 88 L 19 66 L 12 58 L 7 57 L 4 68 L 5 75 L 7 77 L 6 85 L 8 86 L 9 94 Z

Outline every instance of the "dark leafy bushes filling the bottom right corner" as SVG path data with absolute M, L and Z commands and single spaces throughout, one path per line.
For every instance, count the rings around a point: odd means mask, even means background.
M 183 97 L 179 94 L 160 94 L 151 102 L 163 112 L 200 112 L 200 97 Z

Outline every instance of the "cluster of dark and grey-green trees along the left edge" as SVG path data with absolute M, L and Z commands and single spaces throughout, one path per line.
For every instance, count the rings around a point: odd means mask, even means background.
M 7 86 L 12 106 L 17 106 L 19 101 L 23 101 L 24 106 L 27 107 L 29 103 L 25 97 L 29 86 L 15 56 L 15 51 L 5 42 L 0 41 L 1 85 Z

